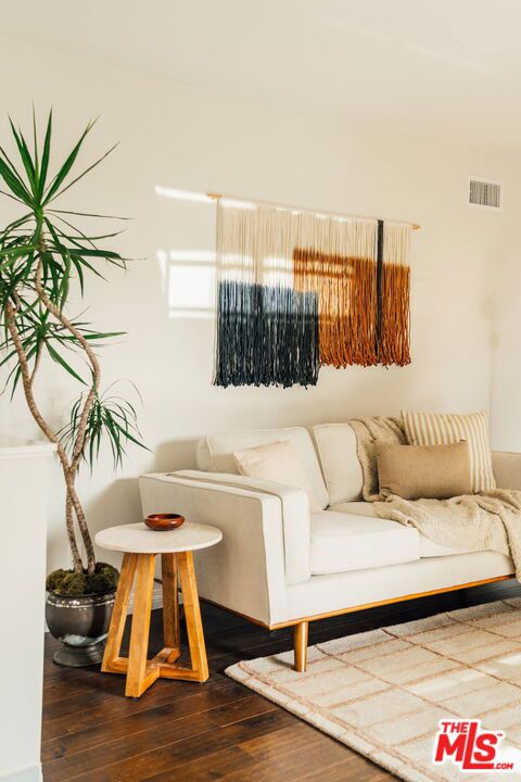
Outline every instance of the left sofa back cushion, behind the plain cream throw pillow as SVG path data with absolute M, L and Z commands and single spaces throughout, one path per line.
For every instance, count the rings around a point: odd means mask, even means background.
M 237 475 L 234 451 L 290 442 L 306 472 L 313 495 L 321 508 L 329 504 L 328 490 L 309 432 L 303 427 L 285 429 L 250 429 L 246 431 L 208 434 L 198 443 L 198 467 L 205 472 L 231 472 Z

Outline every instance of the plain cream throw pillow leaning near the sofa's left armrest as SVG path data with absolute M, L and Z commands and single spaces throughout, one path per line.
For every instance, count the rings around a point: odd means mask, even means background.
M 269 445 L 234 451 L 233 457 L 240 475 L 303 489 L 309 497 L 310 513 L 321 512 L 322 508 L 313 493 L 312 483 L 298 454 L 290 442 L 284 440 Z

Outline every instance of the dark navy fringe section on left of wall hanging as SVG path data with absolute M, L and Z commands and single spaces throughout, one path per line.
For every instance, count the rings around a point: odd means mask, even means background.
M 215 386 L 317 384 L 316 293 L 226 281 L 217 307 Z

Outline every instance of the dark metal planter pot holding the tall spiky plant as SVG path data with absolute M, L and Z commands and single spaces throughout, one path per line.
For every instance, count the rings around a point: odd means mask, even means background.
M 62 641 L 54 663 L 81 667 L 101 661 L 115 595 L 113 591 L 68 597 L 47 592 L 47 625 L 51 634 Z

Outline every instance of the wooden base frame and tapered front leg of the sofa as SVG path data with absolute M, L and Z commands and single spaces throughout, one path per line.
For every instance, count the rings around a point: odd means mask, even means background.
M 435 594 L 444 594 L 446 592 L 457 592 L 458 590 L 471 589 L 473 586 L 484 586 L 485 584 L 495 583 L 497 581 L 509 581 L 514 578 L 514 573 L 508 576 L 496 576 L 494 578 L 483 579 L 481 581 L 471 581 L 469 583 L 454 584 L 445 589 L 431 590 L 430 592 L 418 592 L 415 594 L 402 595 L 401 597 L 393 597 L 391 600 L 378 601 L 377 603 L 366 603 L 364 605 L 351 606 L 350 608 L 341 608 L 340 610 L 329 611 L 327 614 L 317 614 L 315 616 L 302 617 L 301 619 L 292 619 L 289 622 L 280 622 L 276 625 L 266 625 L 265 622 L 254 619 L 253 617 L 245 616 L 232 608 L 227 608 L 211 600 L 201 598 L 204 603 L 209 603 L 224 610 L 229 610 L 231 614 L 246 619 L 247 621 L 258 625 L 259 627 L 266 628 L 266 630 L 282 630 L 283 628 L 292 627 L 293 630 L 293 651 L 294 651 L 294 669 L 298 673 L 303 673 L 307 668 L 307 645 L 309 636 L 309 622 L 319 621 L 320 619 L 329 619 L 334 616 L 343 616 L 344 614 L 355 614 L 356 611 L 368 610 L 369 608 L 378 608 L 379 606 L 393 605 L 394 603 L 405 603 L 406 601 L 417 600 L 418 597 L 430 597 Z

